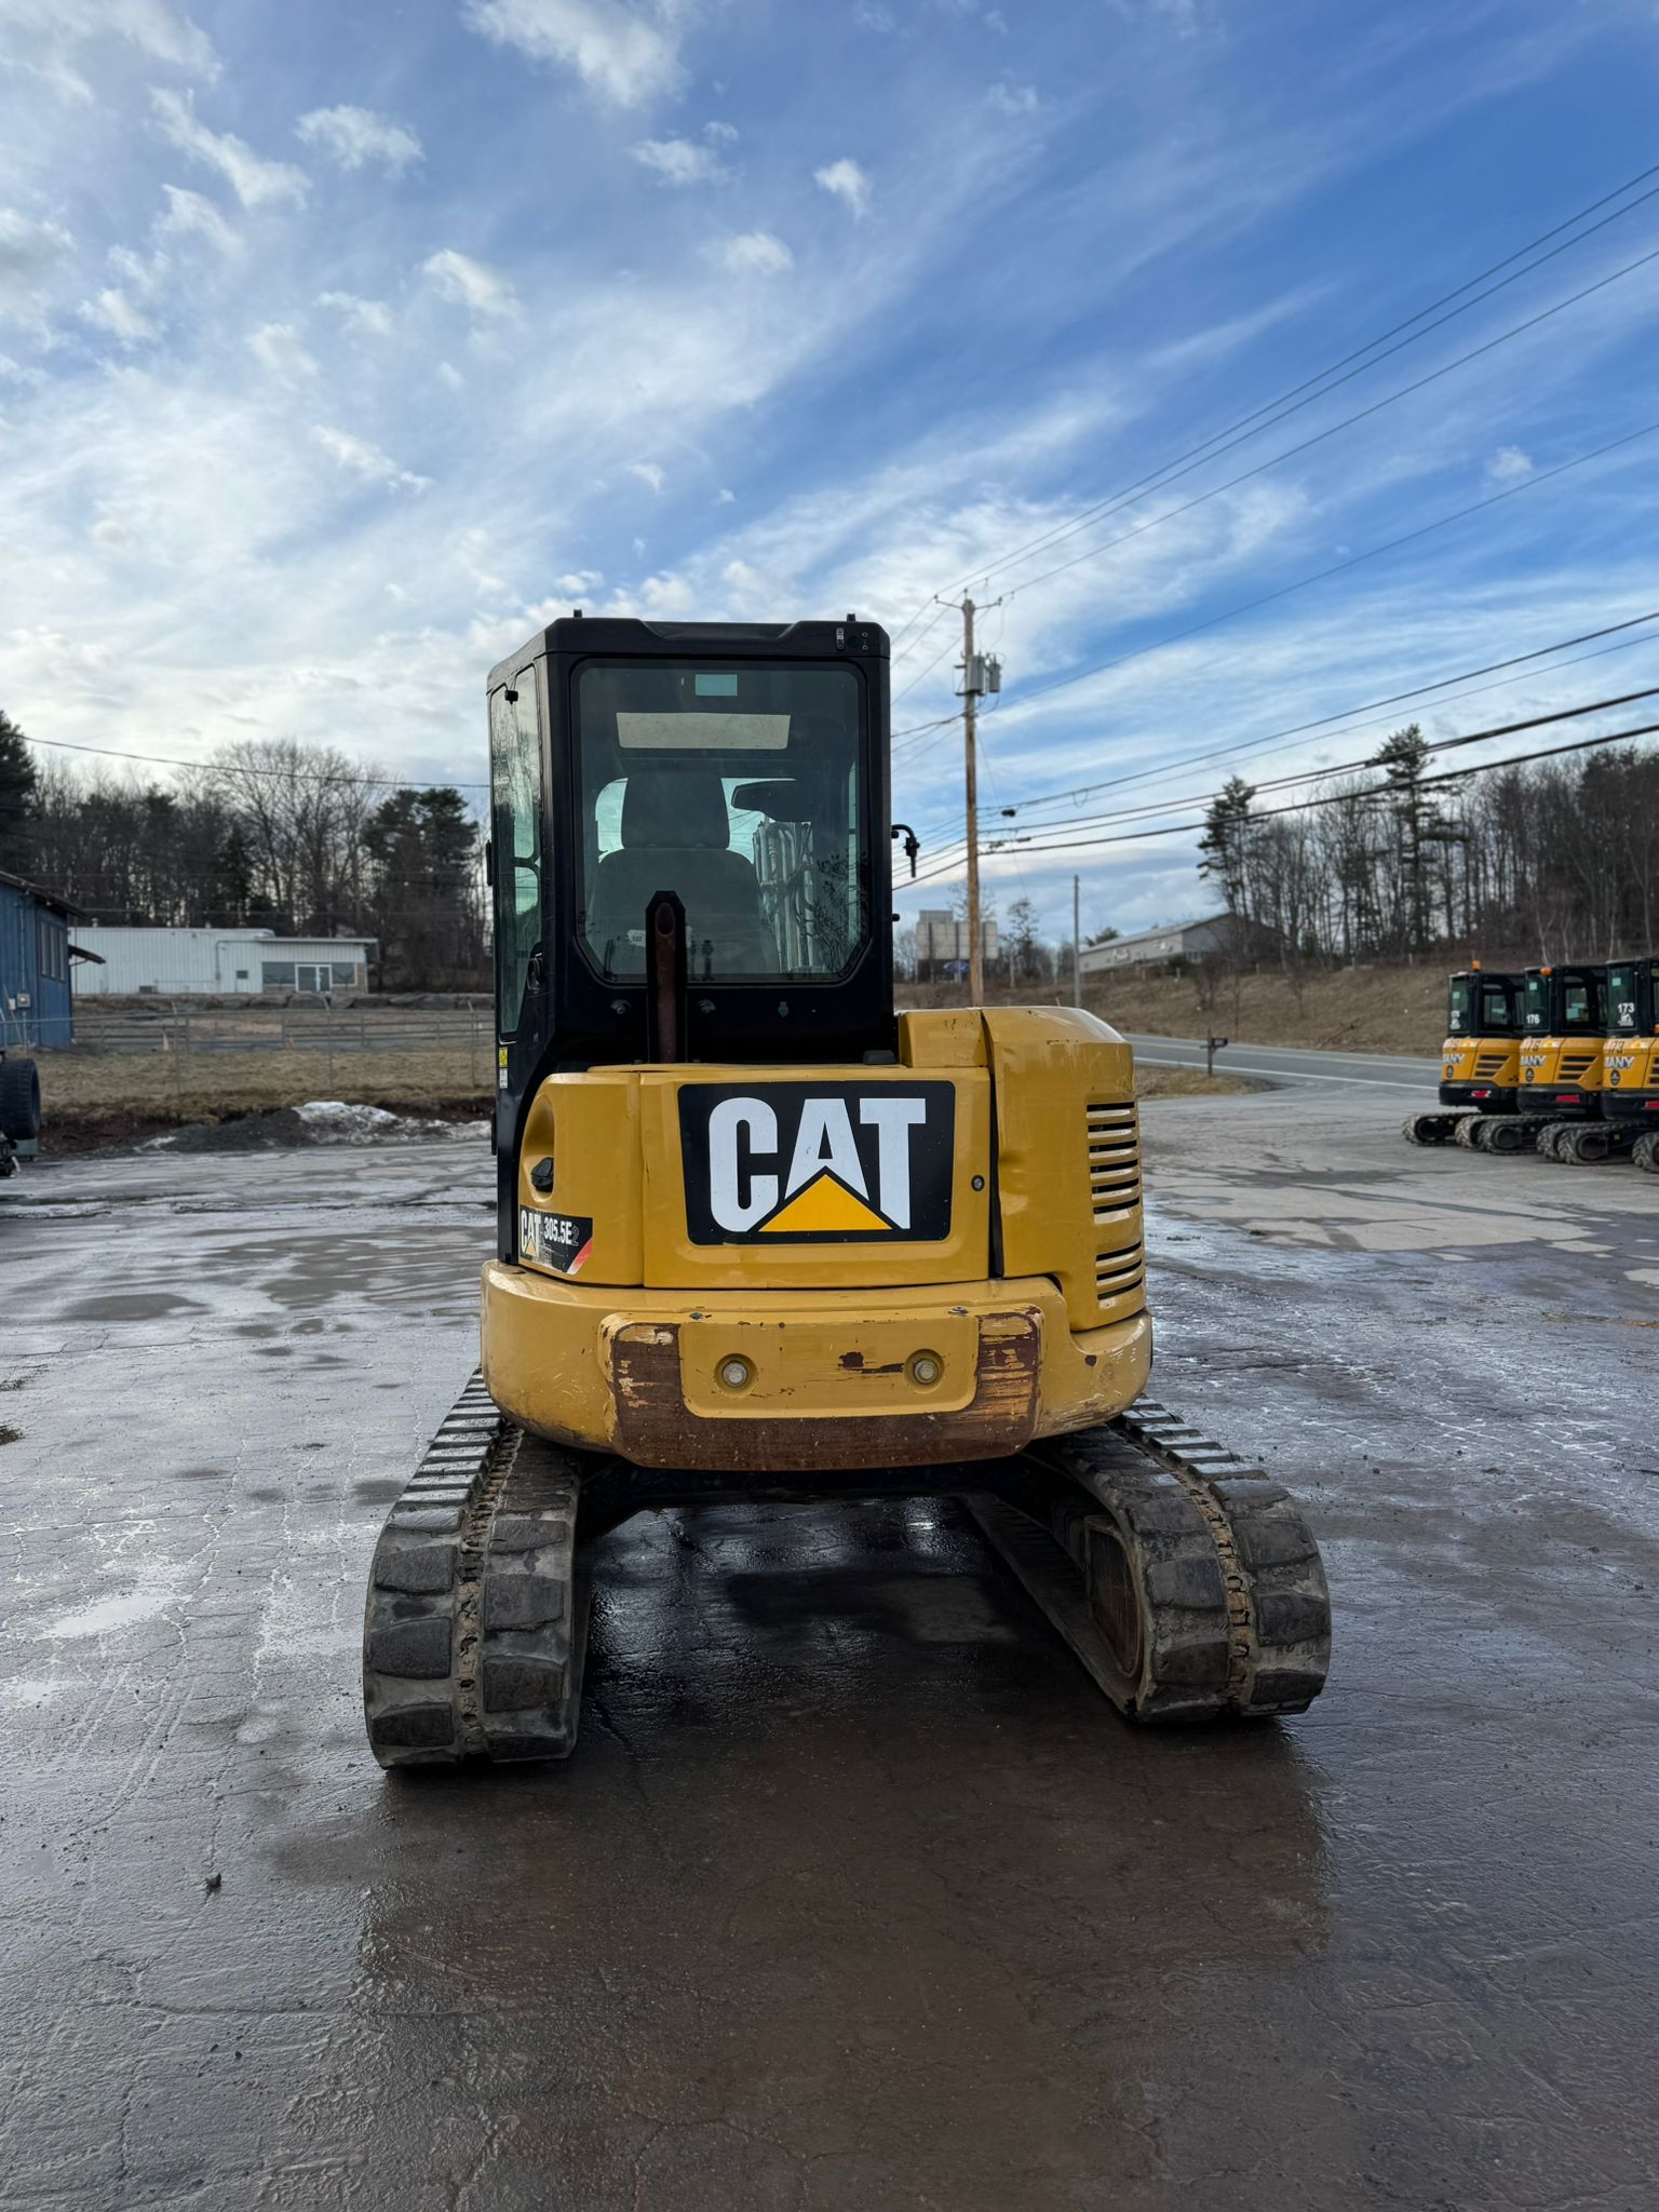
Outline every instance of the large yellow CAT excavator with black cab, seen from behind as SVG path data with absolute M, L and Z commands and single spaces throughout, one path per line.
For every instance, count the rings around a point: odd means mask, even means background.
M 1135 1071 L 1068 1009 L 894 1011 L 887 637 L 573 615 L 489 677 L 498 1243 L 392 1506 L 392 1765 L 560 1759 L 593 1544 L 962 1500 L 1141 1721 L 1301 1712 L 1307 1526 L 1141 1391 Z

